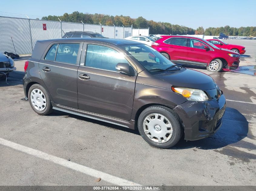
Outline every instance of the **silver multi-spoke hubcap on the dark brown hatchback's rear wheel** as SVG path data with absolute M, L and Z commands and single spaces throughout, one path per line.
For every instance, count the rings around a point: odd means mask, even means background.
M 39 89 L 34 89 L 30 94 L 30 100 L 32 105 L 38 111 L 43 111 L 46 107 L 45 94 Z

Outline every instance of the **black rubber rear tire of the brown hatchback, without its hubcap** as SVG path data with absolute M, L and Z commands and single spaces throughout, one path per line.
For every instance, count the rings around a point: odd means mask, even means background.
M 42 111 L 37 110 L 31 101 L 31 92 L 35 89 L 38 89 L 40 91 L 42 91 L 42 93 L 44 94 L 44 97 L 46 99 L 46 106 Z M 29 90 L 28 90 L 28 101 L 30 103 L 30 106 L 32 107 L 32 109 L 35 111 L 35 113 L 37 113 L 38 115 L 48 115 L 50 113 L 52 113 L 53 109 L 52 109 L 52 104 L 51 104 L 51 99 L 50 99 L 50 95 L 49 93 L 45 90 L 45 88 L 40 85 L 40 84 L 33 84 Z

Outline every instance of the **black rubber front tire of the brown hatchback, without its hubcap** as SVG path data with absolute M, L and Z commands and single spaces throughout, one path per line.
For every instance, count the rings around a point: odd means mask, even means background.
M 172 125 L 173 134 L 167 142 L 159 143 L 159 142 L 152 141 L 150 138 L 148 138 L 148 136 L 146 135 L 146 133 L 143 129 L 144 119 L 148 115 L 153 114 L 153 113 L 158 113 L 158 114 L 164 115 L 170 121 L 170 123 Z M 178 117 L 174 113 L 174 111 L 172 111 L 168 107 L 164 107 L 164 106 L 151 106 L 151 107 L 148 107 L 145 110 L 143 110 L 138 118 L 138 130 L 139 130 L 142 138 L 144 138 L 144 140 L 146 142 L 148 142 L 148 144 L 150 144 L 154 147 L 158 147 L 158 148 L 173 147 L 174 145 L 176 145 L 179 142 L 179 140 L 183 134 L 183 128 L 181 126 L 181 123 L 180 123 Z

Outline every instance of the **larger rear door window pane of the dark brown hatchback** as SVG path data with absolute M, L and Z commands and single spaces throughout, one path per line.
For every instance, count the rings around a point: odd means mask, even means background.
M 76 65 L 79 46 L 75 43 L 59 44 L 55 61 Z

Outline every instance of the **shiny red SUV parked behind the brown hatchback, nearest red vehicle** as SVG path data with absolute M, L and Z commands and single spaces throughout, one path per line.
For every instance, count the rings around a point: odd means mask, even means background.
M 219 49 L 197 37 L 162 36 L 151 46 L 174 63 L 205 66 L 211 72 L 221 72 L 222 68 L 234 70 L 240 62 L 239 53 Z

